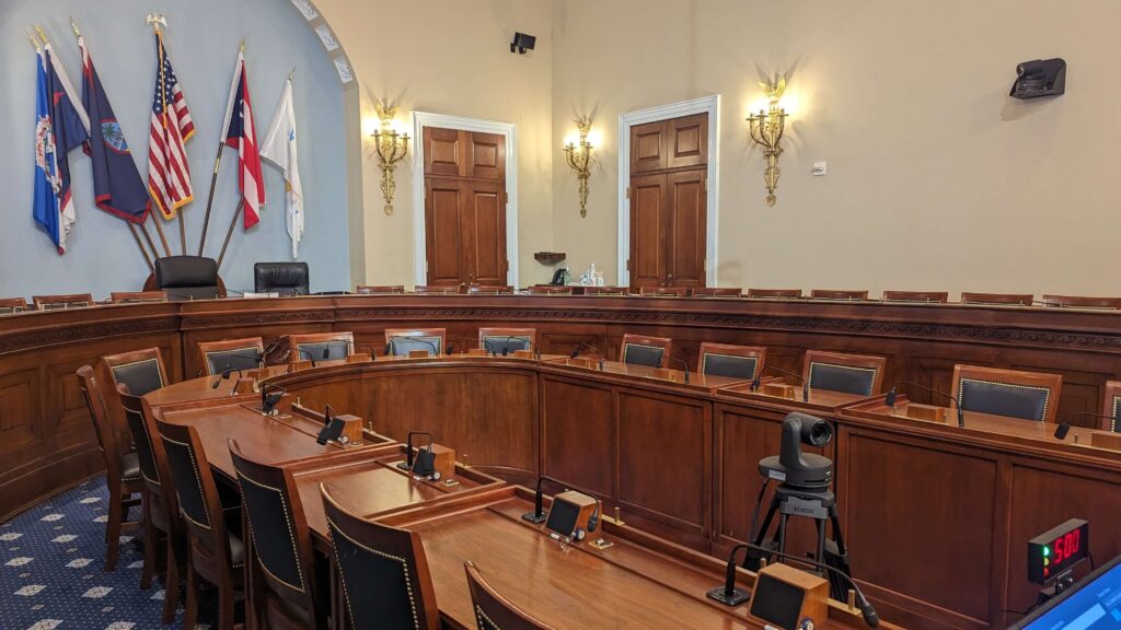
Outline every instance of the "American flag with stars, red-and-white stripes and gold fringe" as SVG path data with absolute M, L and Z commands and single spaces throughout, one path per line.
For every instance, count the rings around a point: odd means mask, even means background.
M 186 142 L 195 133 L 191 112 L 183 99 L 179 80 L 164 48 L 164 37 L 156 34 L 159 68 L 151 104 L 151 143 L 148 148 L 148 191 L 165 219 L 194 198 Z

